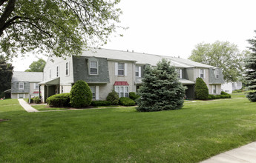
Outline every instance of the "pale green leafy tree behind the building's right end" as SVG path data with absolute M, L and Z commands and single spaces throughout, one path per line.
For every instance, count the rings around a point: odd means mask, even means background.
M 237 82 L 243 74 L 243 59 L 248 55 L 248 50 L 240 52 L 229 41 L 215 41 L 197 44 L 188 59 L 222 68 L 225 82 Z

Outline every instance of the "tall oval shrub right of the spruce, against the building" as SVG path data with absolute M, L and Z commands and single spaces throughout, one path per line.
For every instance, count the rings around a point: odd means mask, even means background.
M 208 99 L 209 90 L 203 79 L 197 78 L 194 92 L 196 94 L 196 99 Z

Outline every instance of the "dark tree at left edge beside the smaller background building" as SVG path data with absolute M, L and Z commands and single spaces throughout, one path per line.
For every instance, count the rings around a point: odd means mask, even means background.
M 0 55 L 0 96 L 2 96 L 4 90 L 10 89 L 12 76 L 13 65 L 7 63 L 7 60 L 4 59 L 4 56 Z

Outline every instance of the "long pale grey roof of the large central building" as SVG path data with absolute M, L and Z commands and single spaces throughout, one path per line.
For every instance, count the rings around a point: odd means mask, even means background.
M 181 59 L 172 56 L 160 56 L 147 53 L 135 53 L 121 50 L 108 50 L 108 49 L 92 49 L 85 50 L 82 52 L 82 56 L 94 56 L 99 58 L 107 58 L 113 60 L 125 60 L 125 61 L 136 61 L 136 64 L 151 64 L 156 66 L 157 62 L 162 59 L 168 59 L 171 61 L 171 65 L 175 67 L 204 67 L 204 68 L 215 68 L 207 64 L 201 64 L 189 59 Z

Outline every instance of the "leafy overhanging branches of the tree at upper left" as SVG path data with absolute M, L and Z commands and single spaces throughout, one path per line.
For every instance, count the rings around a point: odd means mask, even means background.
M 119 0 L 0 0 L 0 53 L 79 55 L 119 28 Z M 121 27 L 122 28 L 122 27 Z

